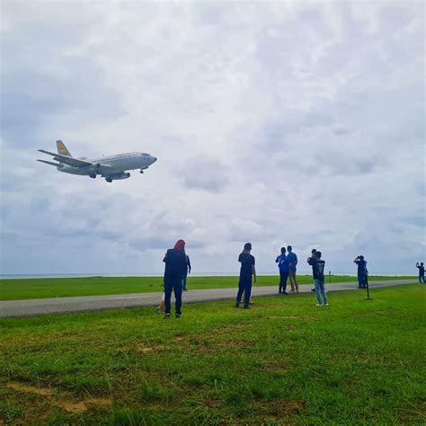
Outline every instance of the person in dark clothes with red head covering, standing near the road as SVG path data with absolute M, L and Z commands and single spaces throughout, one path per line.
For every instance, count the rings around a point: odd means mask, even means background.
M 170 298 L 174 291 L 175 315 L 179 318 L 182 315 L 182 279 L 187 270 L 185 254 L 185 242 L 178 240 L 173 249 L 167 250 L 164 255 L 164 318 L 170 317 Z

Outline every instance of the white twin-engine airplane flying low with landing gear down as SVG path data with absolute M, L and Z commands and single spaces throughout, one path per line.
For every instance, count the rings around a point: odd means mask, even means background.
M 105 178 L 106 182 L 128 179 L 130 173 L 127 173 L 127 170 L 140 169 L 140 173 L 144 173 L 144 170 L 156 161 L 155 156 L 139 152 L 105 155 L 94 159 L 86 157 L 75 158 L 61 140 L 57 140 L 57 147 L 58 154 L 44 149 L 39 149 L 39 152 L 52 155 L 53 159 L 59 163 L 52 163 L 46 160 L 37 161 L 54 165 L 59 172 L 90 176 L 93 179 L 100 174 Z

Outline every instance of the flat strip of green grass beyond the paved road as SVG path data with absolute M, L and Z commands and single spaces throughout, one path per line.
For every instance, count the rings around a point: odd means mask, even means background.
M 372 276 L 369 280 L 408 280 L 416 277 Z M 272 286 L 278 283 L 277 276 L 261 276 L 257 286 Z M 300 284 L 312 285 L 310 275 L 298 277 Z M 326 278 L 328 282 L 328 277 Z M 357 281 L 349 275 L 332 276 L 333 282 Z M 191 290 L 202 288 L 236 288 L 237 277 L 191 277 L 188 287 Z M 20 300 L 27 298 L 100 296 L 129 293 L 162 291 L 162 277 L 87 277 L 50 278 L 25 280 L 0 280 L 0 300 Z

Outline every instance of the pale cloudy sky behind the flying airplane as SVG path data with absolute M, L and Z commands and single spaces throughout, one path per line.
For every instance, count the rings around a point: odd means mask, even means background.
M 1 3 L 1 273 L 415 273 L 425 250 L 424 4 Z M 37 149 L 158 157 L 107 183 Z M 49 158 L 46 158 L 49 159 Z

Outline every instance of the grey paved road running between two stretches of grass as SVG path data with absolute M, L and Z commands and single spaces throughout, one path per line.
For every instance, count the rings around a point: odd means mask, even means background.
M 372 281 L 370 288 L 392 287 L 413 284 L 417 280 Z M 341 282 L 329 285 L 329 291 L 357 289 L 355 282 Z M 289 286 L 288 286 L 289 288 Z M 312 286 L 300 286 L 301 293 L 309 293 Z M 365 290 L 358 290 L 365 291 Z M 37 298 L 0 302 L 0 317 L 61 314 L 68 312 L 96 311 L 120 307 L 157 306 L 163 293 L 138 293 L 110 296 Z M 234 299 L 236 288 L 212 288 L 183 292 L 183 303 L 206 302 L 209 300 Z M 277 286 L 253 287 L 253 296 L 277 295 Z M 296 297 L 295 294 L 280 297 Z

